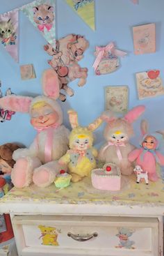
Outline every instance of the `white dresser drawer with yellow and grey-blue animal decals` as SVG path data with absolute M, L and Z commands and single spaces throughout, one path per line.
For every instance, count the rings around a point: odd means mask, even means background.
M 19 255 L 158 256 L 157 218 L 15 216 Z

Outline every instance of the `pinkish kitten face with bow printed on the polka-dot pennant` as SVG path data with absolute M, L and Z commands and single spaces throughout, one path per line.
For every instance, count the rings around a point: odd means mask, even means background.
M 45 3 L 33 7 L 33 21 L 37 24 L 40 31 L 44 32 L 44 29 L 49 31 L 53 25 L 54 18 L 53 6 Z

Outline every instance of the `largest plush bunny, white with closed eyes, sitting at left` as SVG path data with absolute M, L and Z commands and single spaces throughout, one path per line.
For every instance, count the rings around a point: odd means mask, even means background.
M 43 96 L 5 96 L 0 99 L 3 109 L 28 113 L 32 126 L 38 135 L 28 149 L 17 149 L 13 153 L 16 161 L 11 178 L 17 188 L 29 186 L 49 186 L 63 167 L 58 159 L 63 156 L 69 145 L 69 130 L 62 125 L 63 112 L 56 99 L 59 84 L 56 71 L 45 70 L 42 75 Z

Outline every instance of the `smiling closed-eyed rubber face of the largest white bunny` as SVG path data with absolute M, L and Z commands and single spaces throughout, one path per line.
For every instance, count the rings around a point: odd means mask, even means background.
M 58 121 L 58 114 L 47 103 L 35 103 L 31 109 L 31 124 L 35 128 L 44 128 L 54 125 Z

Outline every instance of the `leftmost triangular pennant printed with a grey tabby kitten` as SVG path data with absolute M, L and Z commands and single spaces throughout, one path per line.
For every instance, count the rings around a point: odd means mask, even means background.
M 11 10 L 0 15 L 0 42 L 6 51 L 18 62 L 19 28 L 18 10 Z

